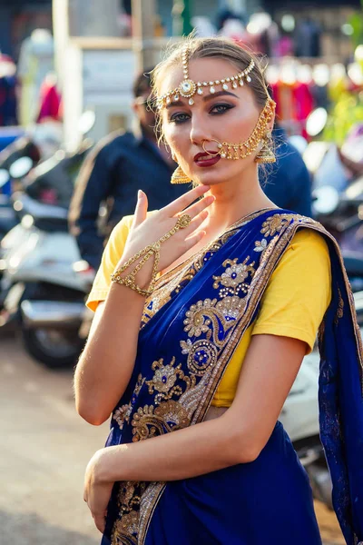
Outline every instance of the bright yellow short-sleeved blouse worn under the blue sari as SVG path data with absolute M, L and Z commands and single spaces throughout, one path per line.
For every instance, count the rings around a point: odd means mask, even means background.
M 126 216 L 116 225 L 107 243 L 101 266 L 93 282 L 87 306 L 95 311 L 104 301 L 132 223 Z M 263 294 L 260 312 L 240 339 L 220 386 L 211 402 L 216 407 L 230 407 L 237 389 L 245 354 L 252 335 L 270 334 L 299 339 L 311 352 L 319 324 L 331 298 L 331 275 L 328 245 L 311 229 L 295 234 L 289 248 L 272 273 Z

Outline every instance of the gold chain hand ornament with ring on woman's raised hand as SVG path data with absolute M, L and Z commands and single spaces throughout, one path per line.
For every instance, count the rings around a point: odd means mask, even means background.
M 175 223 L 175 226 L 168 233 L 164 234 L 161 239 L 156 241 L 156 243 L 149 244 L 148 246 L 143 248 L 140 252 L 136 253 L 129 260 L 127 260 L 127 262 L 124 263 L 120 269 L 113 272 L 113 274 L 111 274 L 111 281 L 126 286 L 127 288 L 131 288 L 134 292 L 140 293 L 140 295 L 142 295 L 143 297 L 149 297 L 154 290 L 154 285 L 156 282 L 162 243 L 171 238 L 171 236 L 177 233 L 180 229 L 188 227 L 190 223 L 191 216 L 188 213 L 182 214 L 182 216 L 180 216 Z M 152 281 L 150 282 L 149 289 L 144 290 L 139 285 L 137 285 L 137 283 L 135 282 L 135 277 L 136 274 L 142 269 L 143 265 L 152 257 L 152 254 L 155 256 L 152 267 Z M 126 269 L 128 269 L 130 265 L 132 265 L 132 263 L 135 263 L 135 261 L 137 261 L 141 257 L 141 262 L 136 265 L 132 272 L 129 272 L 129 274 L 127 274 L 126 276 L 122 276 L 122 273 L 125 272 Z

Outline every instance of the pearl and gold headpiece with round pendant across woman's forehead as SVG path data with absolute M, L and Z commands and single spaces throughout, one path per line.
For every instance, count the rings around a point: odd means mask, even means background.
M 214 94 L 217 92 L 216 87 L 221 86 L 221 89 L 223 91 L 228 91 L 228 89 L 233 88 L 237 89 L 237 87 L 240 85 L 244 85 L 244 82 L 250 84 L 252 81 L 250 79 L 250 72 L 253 70 L 255 63 L 251 59 L 250 64 L 247 68 L 242 70 L 242 72 L 239 72 L 238 74 L 231 75 L 229 77 L 222 78 L 221 80 L 214 80 L 213 82 L 197 82 L 195 83 L 190 77 L 189 77 L 189 52 L 188 47 L 185 47 L 182 52 L 182 72 L 183 72 L 183 79 L 182 82 L 178 85 L 178 87 L 175 87 L 175 89 L 172 89 L 172 91 L 168 91 L 168 93 L 162 94 L 157 99 L 158 108 L 162 109 L 167 104 L 171 104 L 172 102 L 176 102 L 179 100 L 180 96 L 183 98 L 189 98 L 189 104 L 192 106 L 194 104 L 194 98 L 193 96 L 195 94 L 204 94 L 204 91 L 207 90 L 211 94 Z

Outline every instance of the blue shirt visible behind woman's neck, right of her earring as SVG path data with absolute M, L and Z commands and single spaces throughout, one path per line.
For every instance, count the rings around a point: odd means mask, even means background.
M 275 129 L 273 138 L 277 161 L 267 167 L 263 191 L 280 208 L 311 216 L 311 180 L 304 160 L 286 140 L 284 131 Z

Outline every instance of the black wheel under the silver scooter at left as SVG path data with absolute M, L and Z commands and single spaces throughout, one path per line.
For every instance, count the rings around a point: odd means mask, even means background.
M 73 366 L 82 351 L 83 342 L 77 332 L 61 329 L 22 329 L 25 349 L 49 369 Z

